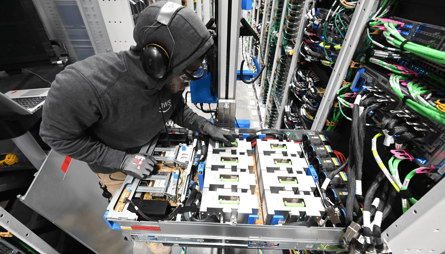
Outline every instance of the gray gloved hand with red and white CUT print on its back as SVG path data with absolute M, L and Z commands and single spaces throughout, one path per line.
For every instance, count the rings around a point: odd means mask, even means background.
M 147 153 L 126 154 L 119 169 L 129 176 L 142 179 L 153 172 L 156 164 L 158 161 Z

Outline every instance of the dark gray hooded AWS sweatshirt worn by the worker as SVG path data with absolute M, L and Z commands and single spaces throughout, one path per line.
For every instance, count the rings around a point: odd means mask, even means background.
M 57 74 L 40 125 L 40 136 L 57 153 L 87 162 L 94 173 L 109 173 L 119 168 L 125 150 L 148 143 L 164 129 L 161 110 L 166 120 L 193 131 L 202 131 L 208 123 L 184 103 L 182 93 L 162 89 L 213 44 L 202 20 L 192 10 L 180 9 L 169 27 L 174 48 L 165 25 L 150 28 L 145 40 L 143 32 L 138 34 L 142 26 L 154 24 L 164 3 L 142 12 L 134 28 L 137 45 L 130 50 L 97 54 Z M 139 60 L 142 41 L 162 45 L 173 56 L 166 77 L 155 80 L 144 72 Z

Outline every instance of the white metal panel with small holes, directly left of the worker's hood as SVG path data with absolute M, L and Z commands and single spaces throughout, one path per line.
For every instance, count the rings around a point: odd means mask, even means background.
M 85 0 L 86 1 L 86 0 Z M 128 50 L 136 45 L 134 22 L 128 0 L 98 0 L 113 52 Z

